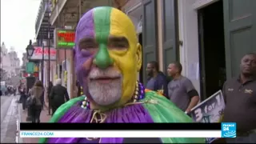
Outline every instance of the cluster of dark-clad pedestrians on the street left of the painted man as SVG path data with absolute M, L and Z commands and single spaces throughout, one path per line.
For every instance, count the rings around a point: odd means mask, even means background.
M 26 90 L 26 86 L 20 86 L 18 91 L 21 95 L 19 102 L 22 103 L 22 110 L 25 112 L 27 109 L 33 123 L 40 122 L 40 114 L 46 107 L 45 98 L 49 102 L 48 106 L 50 106 L 51 115 L 54 114 L 59 106 L 70 99 L 66 87 L 62 86 L 60 78 L 56 80 L 55 86 L 50 82 L 50 86 L 46 89 L 42 82 L 38 80 L 30 90 Z

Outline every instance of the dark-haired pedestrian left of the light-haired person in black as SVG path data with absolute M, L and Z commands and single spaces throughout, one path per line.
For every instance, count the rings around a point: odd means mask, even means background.
M 44 90 L 41 81 L 35 82 L 34 86 L 30 90 L 30 98 L 33 101 L 30 106 L 32 123 L 40 122 L 40 114 L 42 111 L 42 96 Z

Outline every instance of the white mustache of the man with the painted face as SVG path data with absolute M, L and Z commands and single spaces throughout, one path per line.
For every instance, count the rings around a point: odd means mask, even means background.
M 113 68 L 108 68 L 106 70 L 101 70 L 94 68 L 90 70 L 88 77 L 90 79 L 96 78 L 121 78 L 122 74 L 118 70 L 113 70 Z

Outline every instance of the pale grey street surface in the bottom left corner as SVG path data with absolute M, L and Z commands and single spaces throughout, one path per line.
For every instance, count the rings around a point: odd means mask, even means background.
M 18 118 L 18 96 L 1 96 L 1 143 L 15 143 L 17 118 Z

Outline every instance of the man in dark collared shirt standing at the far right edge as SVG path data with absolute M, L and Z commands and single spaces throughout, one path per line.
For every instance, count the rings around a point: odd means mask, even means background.
M 227 143 L 256 143 L 256 54 L 246 54 L 238 77 L 223 86 L 226 102 L 223 122 L 237 123 L 237 137 Z

